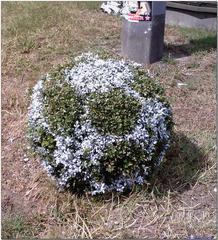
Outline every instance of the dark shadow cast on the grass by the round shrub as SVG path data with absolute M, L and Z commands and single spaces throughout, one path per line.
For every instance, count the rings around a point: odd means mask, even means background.
M 165 195 L 169 190 L 182 193 L 198 181 L 204 167 L 203 150 L 184 134 L 174 133 L 166 161 L 153 175 L 151 188 L 160 196 Z

